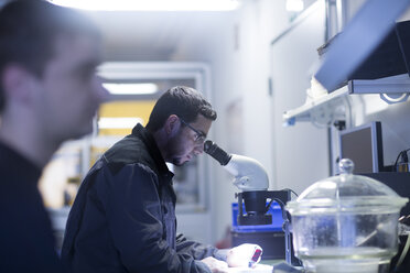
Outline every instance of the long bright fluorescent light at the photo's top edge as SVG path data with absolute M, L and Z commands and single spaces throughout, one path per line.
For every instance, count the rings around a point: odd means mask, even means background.
M 47 0 L 54 4 L 105 11 L 229 11 L 239 0 Z

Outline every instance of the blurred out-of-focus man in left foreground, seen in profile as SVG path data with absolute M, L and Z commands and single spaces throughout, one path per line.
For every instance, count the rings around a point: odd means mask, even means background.
M 60 144 L 91 132 L 105 96 L 99 33 L 45 1 L 0 11 L 0 272 L 62 272 L 37 190 Z

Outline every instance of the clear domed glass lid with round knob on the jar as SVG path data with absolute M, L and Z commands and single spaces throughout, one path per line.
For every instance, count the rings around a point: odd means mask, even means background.
M 339 162 L 341 175 L 316 182 L 308 187 L 295 201 L 288 203 L 292 214 L 316 211 L 354 211 L 388 209 L 399 210 L 408 201 L 385 184 L 363 175 L 354 175 L 354 163 L 344 159 Z M 327 211 L 328 212 L 328 211 Z M 387 212 L 387 211 L 385 211 Z M 393 211 L 392 211 L 393 212 Z

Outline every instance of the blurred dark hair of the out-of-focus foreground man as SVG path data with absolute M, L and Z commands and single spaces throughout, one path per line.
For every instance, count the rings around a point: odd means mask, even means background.
M 85 15 L 44 0 L 15 0 L 0 10 L 0 77 L 9 64 L 19 64 L 42 77 L 53 58 L 56 37 L 85 34 L 99 39 L 97 28 Z M 6 98 L 0 83 L 0 111 Z

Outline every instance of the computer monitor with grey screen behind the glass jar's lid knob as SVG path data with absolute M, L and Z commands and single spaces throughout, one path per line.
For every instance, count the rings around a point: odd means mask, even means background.
M 350 159 L 355 163 L 355 174 L 381 172 L 381 123 L 374 121 L 341 131 L 339 152 L 341 159 Z

